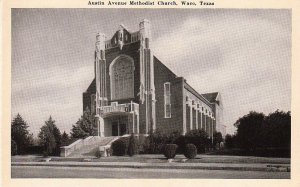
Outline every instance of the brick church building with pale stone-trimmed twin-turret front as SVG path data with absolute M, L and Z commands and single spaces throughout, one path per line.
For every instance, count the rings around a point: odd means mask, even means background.
M 111 39 L 97 34 L 95 79 L 83 93 L 83 110 L 95 115 L 98 136 L 204 129 L 224 134 L 218 92 L 200 94 L 151 50 L 150 22 L 137 32 L 120 25 Z

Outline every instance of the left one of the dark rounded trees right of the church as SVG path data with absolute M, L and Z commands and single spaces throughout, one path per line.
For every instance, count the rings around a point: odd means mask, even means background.
M 234 126 L 237 128 L 237 145 L 246 150 L 255 151 L 261 143 L 261 130 L 265 115 L 263 113 L 250 112 L 239 118 Z

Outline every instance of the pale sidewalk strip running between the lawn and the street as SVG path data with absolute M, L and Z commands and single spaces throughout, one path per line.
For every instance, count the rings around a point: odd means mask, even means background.
M 139 163 L 139 162 L 12 162 L 12 166 L 47 167 L 103 167 L 103 168 L 152 168 L 152 169 L 199 169 L 290 172 L 289 164 L 243 163 Z

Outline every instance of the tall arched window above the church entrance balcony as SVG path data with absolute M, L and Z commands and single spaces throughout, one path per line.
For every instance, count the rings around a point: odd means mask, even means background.
M 111 100 L 134 97 L 134 63 L 129 56 L 121 55 L 109 67 Z

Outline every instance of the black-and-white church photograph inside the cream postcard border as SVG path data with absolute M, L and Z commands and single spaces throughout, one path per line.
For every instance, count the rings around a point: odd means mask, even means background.
M 11 178 L 291 179 L 291 64 L 291 9 L 12 8 Z

